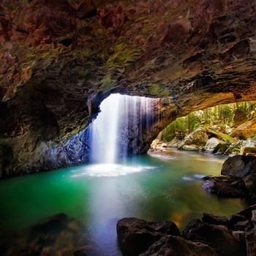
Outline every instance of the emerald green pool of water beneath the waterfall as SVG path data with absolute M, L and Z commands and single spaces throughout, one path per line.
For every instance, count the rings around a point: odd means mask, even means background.
M 1 180 L 0 240 L 65 213 L 83 224 L 89 255 L 121 255 L 118 219 L 170 220 L 182 230 L 203 212 L 228 216 L 241 211 L 240 199 L 200 189 L 200 178 L 219 175 L 224 161 L 222 156 L 169 151 L 132 157 L 125 164 L 87 164 Z

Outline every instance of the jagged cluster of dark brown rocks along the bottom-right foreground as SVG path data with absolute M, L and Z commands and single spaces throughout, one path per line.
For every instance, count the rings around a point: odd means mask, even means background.
M 250 206 L 229 218 L 204 213 L 202 221 L 192 219 L 181 234 L 173 222 L 166 222 L 165 230 L 157 232 L 158 223 L 163 222 L 121 219 L 116 225 L 119 246 L 123 255 L 134 256 L 251 256 L 255 254 L 255 208 Z

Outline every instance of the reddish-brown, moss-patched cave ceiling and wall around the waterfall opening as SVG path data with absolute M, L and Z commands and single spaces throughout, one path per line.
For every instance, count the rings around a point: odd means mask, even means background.
M 255 99 L 255 1 L 109 2 L 1 2 L 4 176 L 85 162 L 113 92 L 162 98 L 140 153 L 179 116 Z

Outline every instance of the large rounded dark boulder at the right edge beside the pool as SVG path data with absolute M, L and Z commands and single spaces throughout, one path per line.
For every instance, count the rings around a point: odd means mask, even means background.
M 244 178 L 256 173 L 256 157 L 233 156 L 228 157 L 222 165 L 222 175 Z

